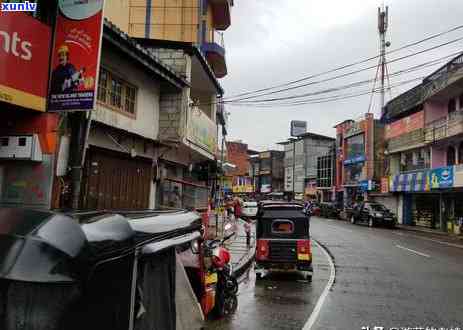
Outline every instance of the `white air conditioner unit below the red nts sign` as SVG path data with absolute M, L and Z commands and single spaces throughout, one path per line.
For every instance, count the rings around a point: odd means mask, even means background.
M 0 159 L 42 161 L 37 134 L 0 136 Z

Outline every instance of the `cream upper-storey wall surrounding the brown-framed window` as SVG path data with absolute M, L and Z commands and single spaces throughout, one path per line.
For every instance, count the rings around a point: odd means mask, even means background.
M 102 66 L 137 87 L 136 118 L 97 103 L 93 119 L 148 139 L 156 139 L 159 133 L 159 83 L 152 76 L 129 63 L 126 58 L 108 48 L 103 49 Z

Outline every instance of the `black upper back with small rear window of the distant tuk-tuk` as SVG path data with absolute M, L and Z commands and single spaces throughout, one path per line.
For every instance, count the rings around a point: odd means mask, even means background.
M 264 208 L 257 223 L 257 238 L 308 239 L 309 218 L 302 208 Z

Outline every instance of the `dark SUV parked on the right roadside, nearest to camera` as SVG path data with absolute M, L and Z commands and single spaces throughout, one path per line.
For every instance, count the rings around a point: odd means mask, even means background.
M 394 228 L 397 223 L 397 217 L 380 203 L 364 202 L 353 208 L 350 222 L 353 224 L 366 223 L 369 227 L 385 225 L 389 228 Z

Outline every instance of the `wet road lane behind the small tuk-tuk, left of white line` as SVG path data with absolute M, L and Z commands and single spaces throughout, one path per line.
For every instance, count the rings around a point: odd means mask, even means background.
M 209 321 L 206 329 L 301 329 L 323 291 L 330 273 L 328 260 L 312 248 L 312 283 L 300 274 L 270 274 L 256 282 L 250 269 L 240 285 L 238 310 L 229 319 Z

